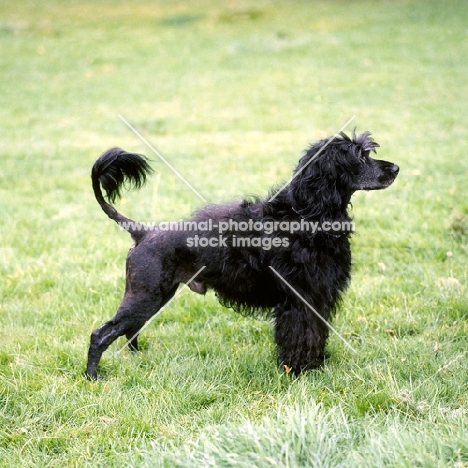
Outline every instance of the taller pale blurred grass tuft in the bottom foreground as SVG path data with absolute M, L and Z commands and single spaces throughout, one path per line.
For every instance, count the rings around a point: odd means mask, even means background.
M 465 466 L 468 444 L 459 413 L 443 414 L 437 433 L 398 414 L 350 418 L 340 406 L 301 400 L 259 422 L 211 427 L 182 449 L 154 444 L 147 466 L 387 467 Z M 408 454 L 411 458 L 408 459 Z

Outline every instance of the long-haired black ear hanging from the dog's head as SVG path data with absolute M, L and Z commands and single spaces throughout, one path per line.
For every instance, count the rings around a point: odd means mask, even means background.
M 322 149 L 322 141 L 309 148 L 294 171 L 289 186 L 289 199 L 293 209 L 303 218 L 321 220 L 335 218 L 343 208 L 339 192 L 335 145 Z M 347 201 L 345 205 L 347 204 Z

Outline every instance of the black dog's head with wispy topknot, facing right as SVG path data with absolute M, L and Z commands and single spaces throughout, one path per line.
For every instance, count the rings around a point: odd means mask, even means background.
M 393 183 L 399 167 L 373 159 L 379 144 L 369 132 L 344 133 L 312 145 L 299 161 L 289 186 L 292 207 L 304 218 L 343 215 L 356 190 L 380 190 Z

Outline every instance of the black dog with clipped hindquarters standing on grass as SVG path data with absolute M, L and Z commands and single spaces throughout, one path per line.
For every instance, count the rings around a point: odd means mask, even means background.
M 384 189 L 399 171 L 369 156 L 378 146 L 369 132 L 321 140 L 271 197 L 206 206 L 186 229 L 173 230 L 142 229 L 106 202 L 101 185 L 112 203 L 125 182 L 139 188 L 152 170 L 138 154 L 103 153 L 92 170 L 94 194 L 135 245 L 122 303 L 91 335 L 87 375 L 97 377 L 102 353 L 117 337 L 125 335 L 137 350 L 139 331 L 180 283 L 200 294 L 213 289 L 223 304 L 245 313 L 271 313 L 278 361 L 287 371 L 320 366 L 328 320 L 350 279 L 351 195 Z

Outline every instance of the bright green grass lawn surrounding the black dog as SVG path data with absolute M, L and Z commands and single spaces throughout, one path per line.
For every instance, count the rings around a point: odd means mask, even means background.
M 468 466 L 463 1 L 0 2 L 0 466 Z M 158 174 L 119 210 L 186 217 L 287 180 L 352 115 L 401 167 L 353 198 L 352 285 L 322 371 L 268 322 L 184 293 L 83 377 L 131 241 L 89 173 Z

